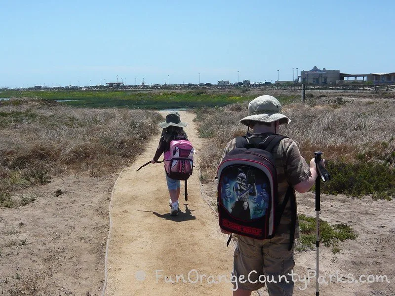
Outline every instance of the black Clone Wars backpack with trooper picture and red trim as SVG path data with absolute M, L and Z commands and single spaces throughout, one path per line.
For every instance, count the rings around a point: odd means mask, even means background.
M 246 137 L 236 138 L 236 148 L 218 166 L 217 205 L 222 229 L 251 238 L 268 239 L 276 234 L 289 199 L 296 213 L 291 186 L 282 204 L 278 204 L 276 164 L 271 152 L 283 138 L 286 137 L 269 134 L 259 144 Z M 293 216 L 292 227 L 295 228 L 296 214 Z

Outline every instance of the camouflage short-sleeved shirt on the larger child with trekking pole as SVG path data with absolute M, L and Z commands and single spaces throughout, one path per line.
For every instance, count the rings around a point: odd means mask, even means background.
M 249 138 L 250 142 L 259 143 L 263 141 L 263 138 L 259 134 L 253 134 Z M 230 141 L 222 155 L 225 157 L 231 150 L 236 148 L 236 139 Z M 277 170 L 277 182 L 278 182 L 278 202 L 282 203 L 285 197 L 285 193 L 289 185 L 295 186 L 311 176 L 310 166 L 307 164 L 306 160 L 300 155 L 299 148 L 296 143 L 289 139 L 282 139 L 278 146 L 273 149 L 276 151 L 273 153 L 276 161 Z M 222 159 L 221 159 L 222 161 Z M 276 236 L 280 235 L 284 238 L 289 239 L 289 233 L 291 228 L 291 203 L 288 202 L 285 207 L 284 213 L 281 216 L 280 224 L 278 225 Z M 296 228 L 295 228 L 295 238 L 299 237 L 299 221 L 296 218 Z

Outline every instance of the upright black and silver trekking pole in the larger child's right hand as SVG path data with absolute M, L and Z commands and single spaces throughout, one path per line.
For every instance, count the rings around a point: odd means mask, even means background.
M 319 212 L 321 211 L 320 203 L 321 203 L 321 180 L 323 182 L 330 180 L 329 172 L 322 166 L 321 162 L 321 151 L 314 152 L 314 161 L 316 163 L 316 168 L 318 172 L 318 176 L 316 178 L 316 249 L 317 249 L 317 265 L 316 265 L 316 296 L 319 296 L 319 284 L 318 284 L 318 277 L 319 277 Z

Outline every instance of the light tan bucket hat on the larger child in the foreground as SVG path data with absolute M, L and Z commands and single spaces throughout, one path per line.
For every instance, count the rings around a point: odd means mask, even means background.
M 280 124 L 288 124 L 291 120 L 281 114 L 281 104 L 275 97 L 264 95 L 255 98 L 248 104 L 248 116 L 239 122 L 249 125 L 251 121 L 271 123 L 279 120 Z

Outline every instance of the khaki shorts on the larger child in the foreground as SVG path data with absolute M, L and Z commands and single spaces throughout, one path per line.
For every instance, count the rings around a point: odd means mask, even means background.
M 235 289 L 255 291 L 266 283 L 269 295 L 292 295 L 294 282 L 288 273 L 295 261 L 293 248 L 288 248 L 289 236 L 266 240 L 238 236 L 232 273 L 237 278 Z

